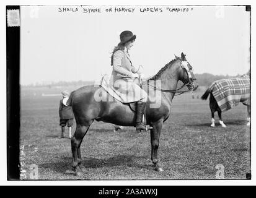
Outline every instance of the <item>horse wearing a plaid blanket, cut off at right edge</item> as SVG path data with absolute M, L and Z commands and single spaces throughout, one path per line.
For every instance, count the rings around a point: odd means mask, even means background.
M 215 126 L 214 112 L 218 111 L 219 124 L 226 127 L 221 112 L 230 110 L 242 102 L 247 105 L 247 126 L 250 125 L 250 77 L 242 75 L 232 79 L 216 80 L 201 96 L 202 100 L 206 100 L 210 94 L 211 109 L 211 127 Z

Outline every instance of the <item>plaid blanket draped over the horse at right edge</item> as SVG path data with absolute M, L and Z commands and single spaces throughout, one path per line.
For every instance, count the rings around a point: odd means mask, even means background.
M 244 105 L 250 103 L 250 77 L 242 75 L 232 79 L 216 80 L 211 84 L 213 96 L 221 111 L 227 111 L 240 102 Z

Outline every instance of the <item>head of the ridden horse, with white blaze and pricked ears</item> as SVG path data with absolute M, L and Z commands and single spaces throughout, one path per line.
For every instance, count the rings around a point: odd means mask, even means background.
M 193 74 L 193 67 L 187 61 L 185 54 L 181 54 L 180 58 L 175 56 L 176 59 L 180 61 L 180 72 L 179 72 L 179 80 L 185 84 L 189 90 L 196 90 L 198 84 L 194 82 L 196 80 L 195 75 Z

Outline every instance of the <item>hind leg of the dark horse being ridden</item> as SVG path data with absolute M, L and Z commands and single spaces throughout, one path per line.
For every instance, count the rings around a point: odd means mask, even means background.
M 72 149 L 72 155 L 73 155 L 73 163 L 72 166 L 75 170 L 76 176 L 81 175 L 82 170 L 79 167 L 81 164 L 81 151 L 80 146 L 82 143 L 82 139 L 86 135 L 86 132 L 88 131 L 89 126 L 81 126 L 77 124 L 76 131 L 74 132 L 74 136 L 71 139 L 71 149 Z

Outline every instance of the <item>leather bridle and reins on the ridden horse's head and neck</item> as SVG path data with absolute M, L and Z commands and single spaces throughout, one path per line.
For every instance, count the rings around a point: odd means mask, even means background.
M 146 82 L 142 82 L 142 84 L 148 85 L 148 87 L 154 88 L 154 90 L 158 90 L 160 92 L 179 93 L 179 94 L 175 94 L 175 95 L 180 95 L 180 94 L 185 93 L 185 92 L 192 92 L 192 90 L 193 90 L 193 80 L 194 80 L 194 78 L 192 77 L 193 72 L 192 72 L 191 69 L 188 68 L 188 62 L 187 61 L 180 62 L 180 67 L 182 67 L 183 72 L 187 72 L 187 75 L 188 75 L 188 82 L 186 84 L 184 83 L 180 88 L 177 88 L 175 90 L 166 90 L 166 89 L 158 88 L 158 87 L 155 87 L 153 85 L 148 84 L 149 80 L 147 80 Z M 188 90 L 179 91 L 180 89 L 182 89 L 183 87 L 186 87 L 186 86 L 188 87 Z

